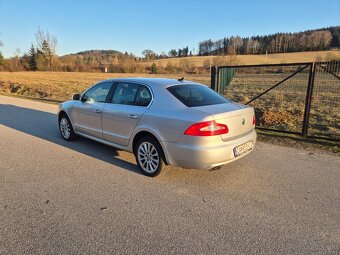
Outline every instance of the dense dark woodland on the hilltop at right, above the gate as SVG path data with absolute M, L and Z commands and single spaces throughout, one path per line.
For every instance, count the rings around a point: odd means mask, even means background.
M 265 54 L 329 50 L 340 47 L 340 26 L 298 33 L 276 33 L 242 38 L 224 37 L 198 44 L 198 55 Z

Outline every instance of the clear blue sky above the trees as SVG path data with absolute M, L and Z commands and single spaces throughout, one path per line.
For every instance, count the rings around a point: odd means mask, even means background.
M 40 26 L 58 55 L 116 49 L 140 56 L 225 36 L 296 32 L 340 25 L 339 0 L 0 0 L 0 51 L 27 52 Z

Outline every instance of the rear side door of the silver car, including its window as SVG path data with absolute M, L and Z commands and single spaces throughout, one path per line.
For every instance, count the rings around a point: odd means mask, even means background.
M 138 121 L 147 110 L 151 100 L 151 91 L 144 85 L 129 82 L 115 84 L 111 103 L 107 103 L 103 109 L 104 139 L 121 146 L 127 146 Z

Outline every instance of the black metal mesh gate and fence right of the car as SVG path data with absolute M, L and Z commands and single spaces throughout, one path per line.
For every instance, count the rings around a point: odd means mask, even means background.
M 340 62 L 219 66 L 211 87 L 255 108 L 259 129 L 340 140 Z

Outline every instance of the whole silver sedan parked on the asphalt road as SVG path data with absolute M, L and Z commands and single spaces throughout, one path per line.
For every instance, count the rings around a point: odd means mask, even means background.
M 58 121 L 67 141 L 80 135 L 133 152 L 147 176 L 165 165 L 217 168 L 256 142 L 252 107 L 181 79 L 101 81 L 60 104 Z

